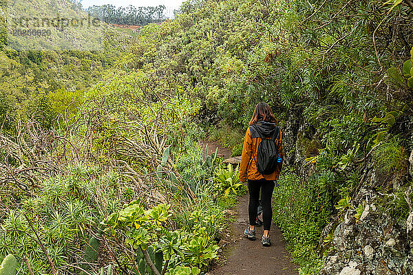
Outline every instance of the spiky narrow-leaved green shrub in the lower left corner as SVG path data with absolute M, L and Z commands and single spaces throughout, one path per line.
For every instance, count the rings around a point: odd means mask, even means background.
M 56 266 L 68 261 L 84 262 L 84 251 L 88 251 L 87 256 L 91 254 L 87 248 L 89 239 L 94 239 L 89 230 L 94 234 L 99 232 L 98 224 L 105 214 L 121 205 L 119 187 L 109 181 L 112 177 L 112 173 L 101 173 L 96 167 L 77 165 L 40 182 L 42 188 L 36 196 L 24 198 L 21 208 L 10 210 L 1 220 L 0 258 L 9 253 L 19 259 L 25 256 L 34 274 L 50 272 L 43 250 L 30 237 L 34 233 L 26 215 Z M 116 177 L 119 180 L 120 176 Z M 92 254 L 96 260 L 96 251 Z M 89 261 L 87 256 L 85 259 Z M 24 274 L 29 273 L 25 265 L 22 270 Z

